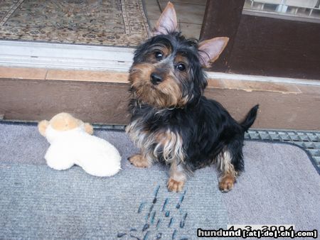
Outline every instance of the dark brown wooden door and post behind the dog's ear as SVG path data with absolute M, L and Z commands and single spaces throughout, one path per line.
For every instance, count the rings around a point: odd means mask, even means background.
M 320 24 L 242 14 L 244 3 L 207 1 L 200 38 L 230 38 L 210 70 L 320 80 Z

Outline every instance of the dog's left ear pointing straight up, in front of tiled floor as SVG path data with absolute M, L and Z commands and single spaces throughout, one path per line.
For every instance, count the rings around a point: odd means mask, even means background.
M 166 4 L 166 8 L 161 13 L 159 20 L 156 22 L 153 35 L 172 33 L 176 31 L 177 26 L 176 10 L 174 10 L 174 4 L 171 4 L 169 1 L 168 4 Z

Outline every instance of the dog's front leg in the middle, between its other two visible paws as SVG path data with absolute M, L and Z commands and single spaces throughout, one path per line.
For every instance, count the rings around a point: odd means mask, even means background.
M 174 160 L 170 166 L 170 178 L 168 180 L 168 190 L 171 192 L 180 192 L 186 182 L 186 170 L 183 168 L 183 163 L 177 163 Z

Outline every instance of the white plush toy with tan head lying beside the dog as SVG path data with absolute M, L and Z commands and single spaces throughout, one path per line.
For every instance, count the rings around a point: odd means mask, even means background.
M 70 114 L 60 113 L 50 121 L 43 120 L 38 129 L 50 143 L 45 156 L 50 168 L 65 170 L 76 164 L 98 177 L 109 177 L 121 169 L 117 148 L 90 135 L 92 126 Z

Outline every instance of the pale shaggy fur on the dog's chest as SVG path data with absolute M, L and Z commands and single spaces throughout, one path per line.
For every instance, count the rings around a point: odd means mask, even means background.
M 183 141 L 181 136 L 169 128 L 150 131 L 143 119 L 135 119 L 126 128 L 134 144 L 150 158 L 162 158 L 167 162 L 183 160 Z

